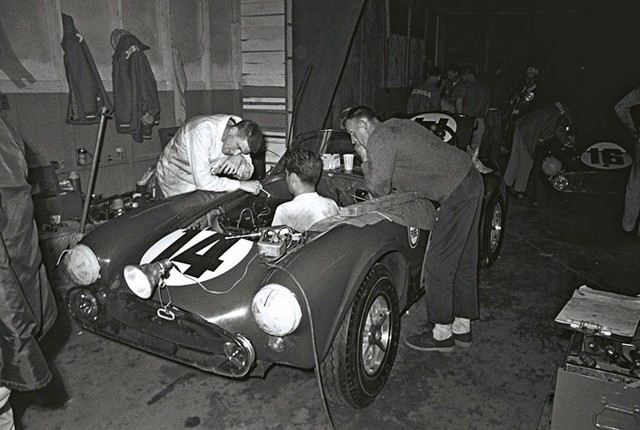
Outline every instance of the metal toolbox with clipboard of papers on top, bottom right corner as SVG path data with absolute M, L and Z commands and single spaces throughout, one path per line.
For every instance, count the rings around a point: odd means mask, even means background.
M 556 317 L 572 330 L 551 429 L 640 429 L 640 298 L 578 288 Z

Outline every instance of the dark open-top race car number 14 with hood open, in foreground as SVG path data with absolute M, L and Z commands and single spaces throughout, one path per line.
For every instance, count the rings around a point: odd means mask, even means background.
M 349 135 L 320 130 L 291 148 L 331 154 L 318 192 L 340 213 L 295 231 L 272 226 L 290 200 L 282 161 L 264 191 L 194 191 L 151 201 L 66 252 L 67 305 L 85 329 L 206 372 L 264 376 L 317 368 L 326 398 L 364 407 L 391 371 L 400 316 L 423 293 L 434 205 L 413 193 L 368 199 Z M 504 187 L 485 175 L 482 257 L 502 243 Z

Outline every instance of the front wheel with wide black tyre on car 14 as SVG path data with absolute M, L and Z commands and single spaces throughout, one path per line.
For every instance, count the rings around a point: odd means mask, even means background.
M 376 264 L 356 293 L 329 353 L 320 364 L 327 399 L 362 408 L 382 390 L 400 334 L 398 297 L 388 269 Z

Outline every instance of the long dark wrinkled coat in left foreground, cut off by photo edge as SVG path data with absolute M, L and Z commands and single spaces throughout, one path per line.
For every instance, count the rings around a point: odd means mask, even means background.
M 37 341 L 57 310 L 38 248 L 24 143 L 1 115 L 0 178 L 0 427 L 11 428 L 10 390 L 51 379 Z

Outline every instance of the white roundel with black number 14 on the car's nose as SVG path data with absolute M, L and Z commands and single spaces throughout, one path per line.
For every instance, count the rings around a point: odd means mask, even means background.
M 166 284 L 192 285 L 233 269 L 252 247 L 250 240 L 225 240 L 223 235 L 211 230 L 176 230 L 154 243 L 144 253 L 140 264 L 171 260 L 174 267 Z

